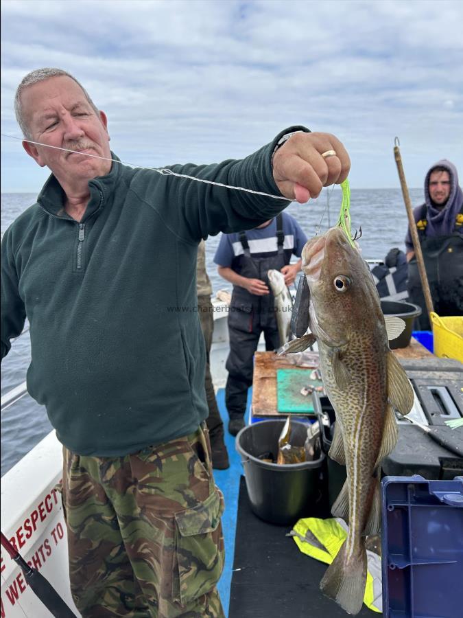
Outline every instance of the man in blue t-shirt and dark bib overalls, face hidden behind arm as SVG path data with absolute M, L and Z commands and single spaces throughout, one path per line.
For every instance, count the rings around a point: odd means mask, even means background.
M 301 260 L 296 264 L 289 262 L 293 254 L 300 258 L 306 242 L 307 237 L 298 222 L 287 213 L 246 233 L 224 234 L 220 239 L 214 262 L 218 264 L 219 275 L 233 284 L 225 387 L 231 435 L 237 435 L 244 427 L 248 388 L 252 385 L 252 358 L 261 332 L 265 336 L 266 350 L 275 350 L 280 345 L 267 273 L 270 268 L 281 271 L 286 285 L 292 285 L 300 271 Z

